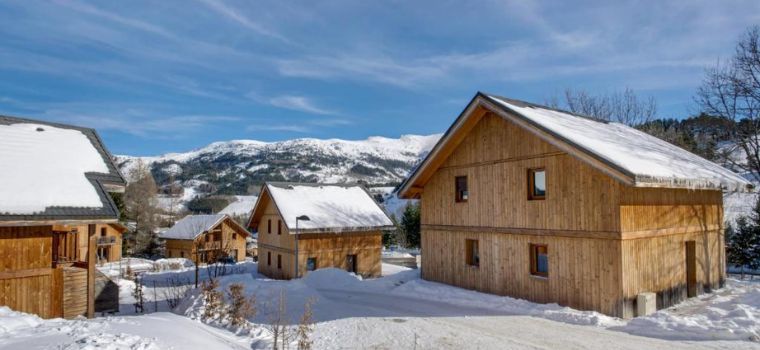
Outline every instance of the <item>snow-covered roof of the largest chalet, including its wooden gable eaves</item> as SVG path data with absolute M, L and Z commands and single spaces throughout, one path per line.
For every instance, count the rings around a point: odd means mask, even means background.
M 401 187 L 402 194 L 407 194 L 415 185 L 415 177 L 438 155 L 442 145 L 476 107 L 491 109 L 515 121 L 538 137 L 632 186 L 729 191 L 744 191 L 751 186 L 749 181 L 718 164 L 627 125 L 478 93 L 428 158 L 407 178 Z

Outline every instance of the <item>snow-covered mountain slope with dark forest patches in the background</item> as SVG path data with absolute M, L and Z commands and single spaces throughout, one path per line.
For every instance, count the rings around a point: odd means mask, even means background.
M 255 193 L 264 181 L 395 185 L 435 145 L 441 134 L 398 139 L 294 139 L 280 142 L 215 142 L 186 153 L 155 157 L 116 156 L 129 178 L 138 160 L 159 186 L 174 179 L 186 190 L 205 194 Z

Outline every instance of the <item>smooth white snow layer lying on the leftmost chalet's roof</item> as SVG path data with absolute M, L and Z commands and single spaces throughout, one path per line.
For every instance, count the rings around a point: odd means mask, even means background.
M 0 213 L 34 214 L 48 207 L 102 208 L 85 173 L 109 172 L 81 131 L 41 124 L 0 125 Z

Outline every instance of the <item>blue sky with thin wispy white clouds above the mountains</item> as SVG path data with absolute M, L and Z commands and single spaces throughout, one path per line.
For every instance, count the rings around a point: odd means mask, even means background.
M 116 154 L 442 132 L 476 91 L 629 87 L 696 110 L 760 1 L 5 1 L 0 113 Z

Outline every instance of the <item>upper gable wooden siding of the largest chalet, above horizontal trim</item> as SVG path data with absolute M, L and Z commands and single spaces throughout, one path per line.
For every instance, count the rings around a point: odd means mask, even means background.
M 546 169 L 544 200 L 528 200 L 528 170 Z M 469 199 L 454 202 L 466 175 Z M 597 232 L 616 238 L 621 185 L 550 144 L 487 114 L 433 175 L 422 224 Z

